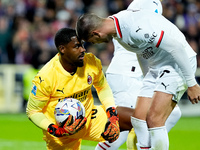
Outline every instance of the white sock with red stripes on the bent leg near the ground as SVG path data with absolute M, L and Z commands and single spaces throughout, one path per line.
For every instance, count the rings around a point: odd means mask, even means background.
M 119 138 L 113 143 L 109 143 L 108 141 L 99 142 L 95 147 L 95 150 L 117 150 L 124 142 L 126 142 L 128 133 L 129 131 L 120 132 Z

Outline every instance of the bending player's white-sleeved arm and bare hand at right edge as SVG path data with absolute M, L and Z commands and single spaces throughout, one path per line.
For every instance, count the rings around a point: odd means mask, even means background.
M 185 51 L 185 46 L 182 42 L 166 34 L 163 37 L 160 37 L 160 39 L 162 40 L 160 47 L 172 55 L 185 77 L 188 86 L 187 93 L 189 100 L 192 104 L 198 103 L 200 100 L 200 87 L 196 82 L 195 74 L 193 73 L 189 58 Z

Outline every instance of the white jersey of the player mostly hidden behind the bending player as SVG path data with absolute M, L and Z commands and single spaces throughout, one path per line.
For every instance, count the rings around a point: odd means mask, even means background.
M 149 10 L 151 12 L 162 14 L 162 4 L 160 0 L 134 0 L 127 9 L 132 11 Z M 106 73 L 130 77 L 142 77 L 142 71 L 136 54 L 125 50 L 115 39 L 113 39 L 113 44 L 114 56 Z

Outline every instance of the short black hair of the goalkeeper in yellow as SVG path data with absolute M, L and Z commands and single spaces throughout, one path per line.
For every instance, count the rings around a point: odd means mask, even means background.
M 62 28 L 58 30 L 54 38 L 56 48 L 58 49 L 60 45 L 68 44 L 71 41 L 71 37 L 73 36 L 77 36 L 76 31 L 74 29 Z

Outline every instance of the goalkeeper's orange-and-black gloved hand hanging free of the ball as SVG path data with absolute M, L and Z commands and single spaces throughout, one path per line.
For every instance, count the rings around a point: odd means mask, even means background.
M 117 110 L 115 107 L 110 107 L 106 110 L 108 116 L 108 122 L 105 126 L 105 131 L 101 136 L 109 141 L 110 143 L 118 139 L 120 134 L 119 129 L 119 116 L 117 115 Z

